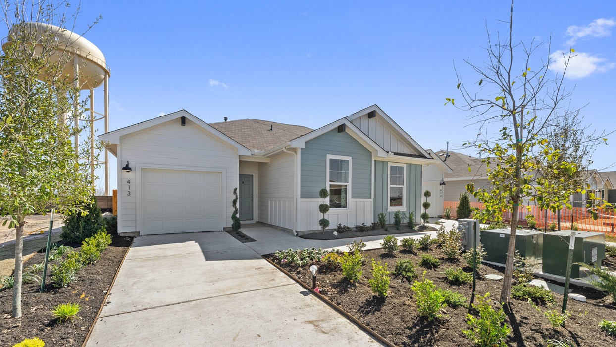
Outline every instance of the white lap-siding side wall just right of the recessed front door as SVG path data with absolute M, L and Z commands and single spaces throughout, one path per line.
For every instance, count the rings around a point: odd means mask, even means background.
M 270 159 L 259 163 L 259 221 L 294 229 L 294 155 L 283 152 Z

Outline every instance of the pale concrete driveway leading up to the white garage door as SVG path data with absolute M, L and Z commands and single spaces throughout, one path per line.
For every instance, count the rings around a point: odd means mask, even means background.
M 323 247 L 270 227 L 137 237 L 87 346 L 378 346 L 261 254 Z

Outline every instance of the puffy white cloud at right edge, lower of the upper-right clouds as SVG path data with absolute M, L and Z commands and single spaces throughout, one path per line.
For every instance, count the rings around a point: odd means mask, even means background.
M 549 57 L 552 60 L 549 70 L 556 73 L 562 73 L 565 68 L 565 61 L 567 57 L 569 57 L 569 53 L 556 51 L 550 54 Z M 570 80 L 578 80 L 580 78 L 590 76 L 593 73 L 606 72 L 615 66 L 616 65 L 614 63 L 606 62 L 606 59 L 598 57 L 597 55 L 585 52 L 575 52 L 572 53 L 571 59 L 569 60 L 569 66 L 567 67 L 565 77 Z

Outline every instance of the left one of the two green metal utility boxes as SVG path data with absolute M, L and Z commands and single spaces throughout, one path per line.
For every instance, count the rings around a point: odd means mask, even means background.
M 481 244 L 484 245 L 486 253 L 485 261 L 505 264 L 509 239 L 511 238 L 509 234 L 511 234 L 511 229 L 492 229 L 481 232 Z M 538 231 L 517 230 L 516 250 L 521 256 L 539 263 L 543 249 L 543 234 L 543 232 Z

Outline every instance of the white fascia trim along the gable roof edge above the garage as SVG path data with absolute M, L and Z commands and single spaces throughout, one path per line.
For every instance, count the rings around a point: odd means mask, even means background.
M 188 120 L 195 123 L 197 126 L 200 126 L 201 129 L 207 131 L 208 133 L 213 134 L 214 136 L 221 139 L 222 142 L 227 143 L 231 147 L 235 147 L 240 155 L 251 155 L 251 151 L 239 144 L 238 142 L 233 141 L 229 136 L 221 133 L 217 129 L 213 128 L 213 126 L 208 125 L 205 121 L 200 120 L 196 116 L 193 116 L 187 110 L 179 110 L 177 112 L 169 113 L 168 115 L 160 116 L 153 118 L 151 120 L 143 121 L 141 123 L 137 123 L 136 125 L 127 126 L 126 128 L 121 128 L 115 131 L 110 131 L 107 134 L 102 134 L 99 136 L 101 141 L 109 142 L 110 144 L 119 144 L 120 137 L 127 136 L 129 134 L 137 133 L 138 131 L 142 131 L 147 128 L 152 128 L 153 126 L 163 124 L 165 122 L 174 120 L 180 117 L 186 117 Z

